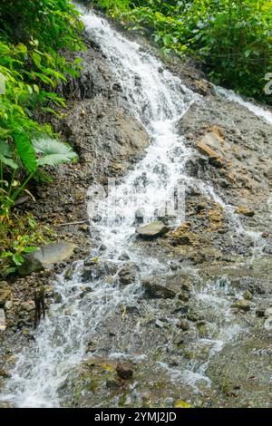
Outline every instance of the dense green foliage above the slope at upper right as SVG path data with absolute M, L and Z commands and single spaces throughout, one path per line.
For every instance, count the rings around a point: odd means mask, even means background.
M 219 84 L 272 104 L 271 0 L 97 0 L 131 28 L 151 34 L 165 53 L 196 56 Z

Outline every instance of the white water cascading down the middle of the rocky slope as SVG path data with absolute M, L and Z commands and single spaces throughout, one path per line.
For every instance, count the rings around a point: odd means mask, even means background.
M 100 259 L 109 267 L 119 267 L 122 264 L 120 255 L 126 250 L 131 261 L 139 266 L 139 273 L 136 283 L 124 288 L 109 286 L 98 277 L 84 284 L 89 287 L 90 293 L 83 298 L 82 262 L 76 266 L 73 281 L 59 277 L 55 290 L 61 295 L 62 302 L 51 306 L 49 315 L 37 330 L 31 350 L 26 348 L 25 352 L 18 354 L 12 378 L 2 397 L 3 401 L 17 407 L 58 406 L 60 385 L 73 367 L 82 362 L 88 341 L 96 335 L 102 319 L 110 317 L 117 306 L 137 300 L 142 277 L 151 276 L 154 271 L 157 275 L 169 273 L 167 261 L 161 264 L 154 258 L 147 259 L 131 247 L 135 213 L 138 208 L 144 208 L 145 218 L 153 218 L 154 210 L 165 206 L 176 186 L 180 183 L 187 185 L 192 179 L 185 173 L 185 165 L 192 152 L 175 130 L 175 122 L 189 110 L 192 102 L 201 102 L 199 96 L 190 92 L 178 77 L 162 70 L 160 61 L 143 52 L 139 44 L 118 34 L 101 17 L 87 13 L 83 15 L 83 22 L 111 63 L 112 72 L 131 104 L 131 111 L 151 136 L 151 146 L 144 159 L 109 198 L 101 200 L 96 211 L 99 220 L 92 223 L 91 218 L 92 230 L 98 235 L 98 246 L 107 247 Z M 201 182 L 197 184 L 210 198 L 216 198 L 211 188 L 204 189 Z M 219 202 L 223 205 L 220 199 Z M 228 209 L 228 206 L 224 207 Z M 210 305 L 211 310 L 217 309 L 225 315 L 217 338 L 203 342 L 211 347 L 212 353 L 221 348 L 222 342 L 237 334 L 238 328 L 233 326 L 229 303 L 223 294 L 218 296 L 218 288 L 206 289 L 199 298 L 203 305 Z M 147 305 L 146 309 L 154 308 Z M 141 331 L 134 330 L 134 333 Z M 116 348 L 115 352 L 118 351 L 119 348 Z M 167 364 L 161 363 L 160 366 L 169 371 Z M 203 379 L 201 373 L 204 370 L 204 367 L 199 371 L 185 370 L 178 372 L 178 377 L 195 386 L 199 378 Z M 175 376 L 175 371 L 170 371 L 170 374 Z M 209 380 L 204 379 L 209 385 Z

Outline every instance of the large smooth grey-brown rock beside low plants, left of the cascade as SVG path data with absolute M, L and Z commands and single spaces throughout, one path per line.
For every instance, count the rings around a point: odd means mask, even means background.
M 36 252 L 24 255 L 24 264 L 18 268 L 18 274 L 28 276 L 43 269 L 52 269 L 54 264 L 72 257 L 75 247 L 67 241 L 46 244 Z

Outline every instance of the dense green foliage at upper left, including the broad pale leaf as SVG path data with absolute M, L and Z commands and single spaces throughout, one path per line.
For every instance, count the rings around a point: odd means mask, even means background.
M 67 0 L 2 0 L 0 4 L 0 202 L 5 218 L 39 167 L 75 155 L 35 119 L 65 101 L 58 82 L 76 76 L 80 61 L 64 49 L 83 49 L 83 24 Z M 37 142 L 45 137 L 45 141 Z M 46 145 L 46 147 L 45 147 Z M 16 178 L 16 179 L 15 179 Z M 22 180 L 23 179 L 23 180 Z M 1 216 L 0 215 L 0 216 Z

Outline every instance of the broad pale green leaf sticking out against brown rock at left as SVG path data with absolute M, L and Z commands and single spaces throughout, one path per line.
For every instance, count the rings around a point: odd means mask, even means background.
M 77 158 L 71 147 L 63 142 L 52 139 L 34 140 L 34 150 L 41 154 L 38 159 L 40 166 L 57 166 L 64 162 L 70 162 Z

